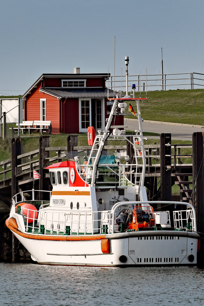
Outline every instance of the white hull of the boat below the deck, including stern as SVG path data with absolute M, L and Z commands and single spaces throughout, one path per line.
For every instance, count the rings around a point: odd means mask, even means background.
M 197 263 L 197 233 L 150 231 L 108 234 L 109 254 L 102 253 L 101 240 L 51 241 L 29 239 L 17 233 L 14 235 L 31 253 L 32 259 L 40 264 L 147 266 Z

